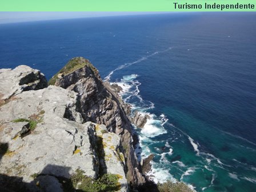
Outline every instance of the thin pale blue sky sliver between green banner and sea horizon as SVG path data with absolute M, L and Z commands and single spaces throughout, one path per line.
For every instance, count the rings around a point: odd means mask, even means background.
M 159 12 L 0 12 L 0 23 L 17 23 L 55 19 L 107 17 L 117 15 L 141 15 L 156 13 Z

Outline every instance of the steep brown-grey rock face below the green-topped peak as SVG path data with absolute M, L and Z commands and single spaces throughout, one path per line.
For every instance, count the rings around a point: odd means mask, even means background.
M 108 131 L 121 137 L 122 152 L 126 161 L 127 182 L 132 185 L 140 185 L 145 182 L 145 178 L 142 176 L 141 167 L 134 151 L 136 145 L 134 140 L 138 139 L 133 135 L 131 122 L 127 118 L 130 106 L 123 103 L 117 94 L 117 89 L 113 90 L 108 82 L 103 82 L 98 70 L 92 69 L 91 66 L 91 64 L 85 65 L 64 76 L 57 74 L 58 79 L 55 81 L 55 86 L 78 93 L 80 103 L 76 110 L 81 113 L 83 122 L 91 121 L 104 124 Z M 54 76 L 56 77 L 56 75 Z

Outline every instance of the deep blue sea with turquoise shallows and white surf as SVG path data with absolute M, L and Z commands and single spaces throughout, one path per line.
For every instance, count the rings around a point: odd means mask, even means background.
M 149 114 L 142 157 L 156 182 L 256 191 L 256 13 L 170 13 L 0 25 L 0 67 L 49 79 L 91 61 Z

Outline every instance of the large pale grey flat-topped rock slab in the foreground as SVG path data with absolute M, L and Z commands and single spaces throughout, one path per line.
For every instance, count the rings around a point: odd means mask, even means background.
M 69 178 L 75 170 L 81 169 L 86 175 L 97 178 L 99 163 L 94 125 L 64 118 L 65 111 L 75 107 L 77 94 L 49 86 L 17 96 L 19 99 L 0 108 L 0 142 L 8 143 L 8 150 L 1 159 L 0 174 L 22 177 L 23 182 L 29 183 L 33 181 L 33 174 Z M 13 122 L 21 118 L 37 121 L 37 126 L 22 135 L 28 122 Z M 42 189 L 50 191 L 51 187 L 57 186 L 56 179 L 50 178 L 42 182 Z M 42 185 L 49 185 L 50 180 L 53 185 L 43 188 Z M 33 185 L 30 187 L 33 189 Z

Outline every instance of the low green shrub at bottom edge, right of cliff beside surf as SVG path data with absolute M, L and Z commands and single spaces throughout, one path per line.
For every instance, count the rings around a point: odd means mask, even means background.
M 165 183 L 158 183 L 157 188 L 159 192 L 193 192 L 185 183 L 166 181 Z

